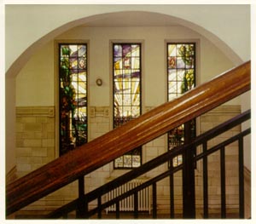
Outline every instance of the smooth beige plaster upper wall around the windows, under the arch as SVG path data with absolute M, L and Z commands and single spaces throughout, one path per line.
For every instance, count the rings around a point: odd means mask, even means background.
M 84 40 L 89 45 L 89 105 L 111 105 L 111 40 L 143 42 L 143 106 L 166 101 L 166 41 L 195 41 L 198 46 L 198 83 L 230 69 L 232 62 L 211 42 L 183 26 L 91 27 L 80 26 L 56 38 Z M 26 63 L 16 78 L 16 106 L 55 105 L 55 43 L 45 44 Z M 102 87 L 96 86 L 102 78 Z M 157 80 L 157 82 L 155 82 Z M 233 104 L 240 104 L 239 100 Z

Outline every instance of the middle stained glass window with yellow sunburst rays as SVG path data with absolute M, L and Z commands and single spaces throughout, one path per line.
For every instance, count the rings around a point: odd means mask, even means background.
M 141 44 L 113 43 L 113 128 L 141 115 Z M 114 160 L 115 169 L 141 165 L 142 150 L 136 148 Z

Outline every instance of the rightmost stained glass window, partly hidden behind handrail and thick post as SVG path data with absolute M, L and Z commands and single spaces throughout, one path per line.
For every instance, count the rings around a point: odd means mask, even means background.
M 168 101 L 195 87 L 195 43 L 167 43 Z M 168 148 L 183 145 L 195 137 L 195 120 L 168 133 Z M 173 158 L 172 166 L 182 164 L 182 155 Z

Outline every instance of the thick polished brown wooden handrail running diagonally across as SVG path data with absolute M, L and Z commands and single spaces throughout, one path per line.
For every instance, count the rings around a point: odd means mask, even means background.
M 250 74 L 248 61 L 10 183 L 6 187 L 6 214 L 241 95 L 250 89 Z

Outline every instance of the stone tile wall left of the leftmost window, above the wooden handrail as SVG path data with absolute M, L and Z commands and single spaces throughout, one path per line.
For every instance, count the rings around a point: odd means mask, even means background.
M 55 158 L 55 108 L 16 108 L 16 166 L 18 177 Z

